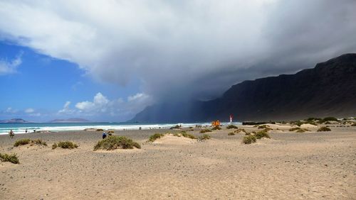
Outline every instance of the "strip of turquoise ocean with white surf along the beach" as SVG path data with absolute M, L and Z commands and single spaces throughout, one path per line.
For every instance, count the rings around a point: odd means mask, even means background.
M 228 122 L 221 123 L 221 125 L 230 124 Z M 239 125 L 241 123 L 233 123 Z M 10 130 L 14 133 L 33 133 L 34 130 L 48 130 L 53 132 L 60 132 L 66 130 L 84 130 L 85 128 L 102 128 L 104 130 L 138 130 L 142 129 L 157 129 L 170 128 L 172 126 L 181 125 L 182 127 L 189 126 L 210 126 L 211 123 L 0 123 L 0 135 L 8 134 Z

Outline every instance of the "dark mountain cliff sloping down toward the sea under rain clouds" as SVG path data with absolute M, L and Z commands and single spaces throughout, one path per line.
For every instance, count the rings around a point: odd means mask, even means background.
M 296 74 L 232 86 L 218 99 L 160 104 L 132 121 L 293 120 L 310 116 L 356 116 L 356 54 L 345 54 Z

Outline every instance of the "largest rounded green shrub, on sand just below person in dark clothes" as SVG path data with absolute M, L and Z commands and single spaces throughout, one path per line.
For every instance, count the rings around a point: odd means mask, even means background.
M 94 146 L 94 150 L 133 149 L 134 147 L 138 149 L 141 148 L 139 143 L 136 143 L 125 136 L 111 136 L 100 140 Z

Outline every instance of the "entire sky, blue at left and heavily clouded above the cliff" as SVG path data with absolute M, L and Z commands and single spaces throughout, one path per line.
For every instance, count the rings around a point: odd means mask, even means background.
M 0 0 L 0 119 L 127 121 L 356 52 L 356 1 Z

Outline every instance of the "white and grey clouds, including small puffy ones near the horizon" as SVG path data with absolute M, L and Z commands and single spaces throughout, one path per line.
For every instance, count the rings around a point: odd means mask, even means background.
M 0 1 L 0 40 L 75 62 L 102 82 L 140 79 L 152 102 L 211 99 L 245 79 L 356 52 L 355 8 L 352 0 Z M 120 104 L 103 97 L 75 107 Z

